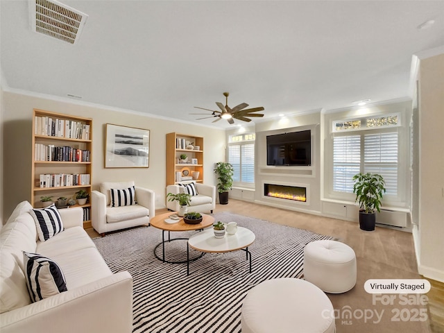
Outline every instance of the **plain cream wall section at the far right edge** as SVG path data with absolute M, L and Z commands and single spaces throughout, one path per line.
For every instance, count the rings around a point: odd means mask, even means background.
M 444 282 L 444 53 L 420 60 L 419 91 L 419 273 Z

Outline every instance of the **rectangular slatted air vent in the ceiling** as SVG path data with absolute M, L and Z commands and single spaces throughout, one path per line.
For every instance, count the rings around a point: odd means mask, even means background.
M 70 44 L 78 41 L 88 15 L 54 0 L 30 1 L 33 31 Z

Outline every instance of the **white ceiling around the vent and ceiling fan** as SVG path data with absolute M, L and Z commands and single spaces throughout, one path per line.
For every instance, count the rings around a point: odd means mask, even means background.
M 61 2 L 89 15 L 74 45 L 31 31 L 28 1 L 0 0 L 6 89 L 184 121 L 225 91 L 264 106 L 259 121 L 402 99 L 411 56 L 444 45 L 444 1 Z

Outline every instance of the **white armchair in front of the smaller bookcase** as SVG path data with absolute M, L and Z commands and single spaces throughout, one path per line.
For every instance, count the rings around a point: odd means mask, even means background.
M 188 207 L 189 212 L 199 213 L 212 213 L 216 207 L 216 187 L 212 185 L 200 184 L 195 182 L 197 189 L 197 196 L 191 196 L 190 204 Z M 168 185 L 167 194 L 179 194 L 183 193 L 184 188 L 179 185 Z M 179 211 L 178 201 L 169 201 L 167 199 L 167 208 L 175 212 Z

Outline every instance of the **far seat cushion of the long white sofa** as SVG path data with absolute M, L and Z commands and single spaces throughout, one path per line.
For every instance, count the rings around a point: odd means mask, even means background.
M 63 244 L 63 246 L 60 246 L 60 244 Z M 57 237 L 44 242 L 38 241 L 35 252 L 54 258 L 56 255 L 64 255 L 65 253 L 76 252 L 83 248 L 95 247 L 94 242 L 83 228 L 73 227 L 60 232 Z

